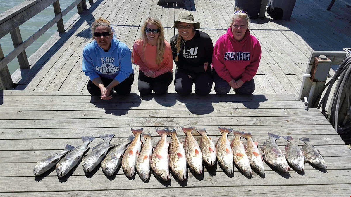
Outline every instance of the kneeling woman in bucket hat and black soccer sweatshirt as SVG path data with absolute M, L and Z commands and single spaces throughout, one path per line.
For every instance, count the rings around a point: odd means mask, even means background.
M 195 93 L 207 95 L 212 89 L 212 40 L 205 32 L 195 30 L 200 23 L 194 22 L 189 11 L 180 12 L 173 27 L 178 29 L 170 40 L 177 65 L 175 89 L 179 95 L 188 95 L 195 83 Z

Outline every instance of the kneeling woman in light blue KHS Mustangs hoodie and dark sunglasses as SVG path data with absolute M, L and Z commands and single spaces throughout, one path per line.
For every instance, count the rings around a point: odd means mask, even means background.
M 90 78 L 88 91 L 101 99 L 111 99 L 112 91 L 129 94 L 134 79 L 131 51 L 117 39 L 106 19 L 100 17 L 91 25 L 93 42 L 83 50 L 83 71 Z

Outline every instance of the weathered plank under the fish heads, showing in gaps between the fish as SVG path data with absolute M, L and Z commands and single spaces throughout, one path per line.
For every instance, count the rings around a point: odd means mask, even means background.
M 324 161 L 327 164 L 327 170 L 343 170 L 343 169 L 350 169 L 350 157 L 324 157 Z M 35 163 L 0 163 L 0 168 L 1 168 L 1 174 L 0 177 L 25 177 L 25 176 L 34 176 L 33 175 L 33 168 L 34 168 Z M 102 169 L 100 166 L 97 167 L 98 169 L 95 169 L 93 173 L 85 173 L 83 171 L 83 168 L 80 166 L 72 173 L 71 176 L 84 176 L 84 174 L 87 175 L 104 175 L 102 172 Z M 269 167 L 268 164 L 264 162 L 264 168 L 265 171 L 274 171 L 272 168 Z M 305 163 L 305 170 L 316 170 L 316 168 L 312 167 L 311 164 Z M 188 169 L 189 172 L 189 169 Z M 223 172 L 223 170 L 220 168 L 218 165 L 214 165 L 212 167 L 206 166 L 204 168 L 204 173 L 210 172 L 213 174 L 214 172 Z M 238 172 L 238 168 L 234 168 L 234 173 Z M 291 172 L 291 171 L 290 171 Z M 239 173 L 239 172 L 238 172 Z M 119 171 L 116 172 L 118 175 L 123 175 L 124 172 L 122 169 L 119 169 Z M 55 170 L 49 170 L 44 174 L 44 176 L 57 176 Z M 151 175 L 153 176 L 153 175 Z M 254 176 L 257 176 L 256 174 Z M 38 178 L 41 178 L 38 177 Z M 138 175 L 136 178 L 139 178 Z

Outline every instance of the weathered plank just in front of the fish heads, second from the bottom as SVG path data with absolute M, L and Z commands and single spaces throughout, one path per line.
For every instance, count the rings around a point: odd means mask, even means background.
M 290 175 L 290 177 L 289 177 Z M 1 177 L 0 191 L 1 192 L 19 192 L 19 191 L 84 191 L 84 190 L 99 190 L 101 188 L 123 188 L 148 189 L 154 187 L 180 188 L 181 186 L 188 187 L 213 187 L 213 186 L 232 186 L 240 182 L 241 185 L 257 186 L 257 185 L 304 185 L 309 184 L 350 184 L 350 170 L 328 170 L 328 173 L 323 173 L 317 170 L 305 171 L 305 175 L 301 176 L 297 173 L 278 173 L 275 171 L 266 172 L 265 178 L 259 176 L 248 179 L 241 173 L 234 173 L 233 177 L 228 177 L 224 172 L 217 172 L 216 176 L 204 174 L 202 176 L 193 176 L 188 173 L 186 184 L 178 183 L 173 176 L 170 181 L 158 181 L 154 175 L 150 181 L 144 184 L 139 177 L 134 180 L 128 180 L 125 175 L 116 175 L 113 180 L 109 180 L 105 175 L 95 175 L 90 178 L 85 176 L 71 176 L 65 181 L 57 177 L 45 177 L 45 181 L 34 181 L 34 177 Z M 286 178 L 284 178 L 286 177 Z M 199 181 L 199 179 L 201 181 Z M 224 181 L 225 180 L 225 181 Z M 45 183 L 44 183 L 45 182 Z M 93 184 L 92 184 L 93 183 Z M 84 187 L 84 185 L 86 185 Z

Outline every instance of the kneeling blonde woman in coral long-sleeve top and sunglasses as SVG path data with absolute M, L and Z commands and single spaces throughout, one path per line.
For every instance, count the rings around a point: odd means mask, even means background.
M 161 21 L 149 17 L 141 26 L 141 37 L 133 44 L 134 63 L 139 66 L 138 89 L 147 95 L 165 94 L 173 80 L 170 44 L 165 40 Z

